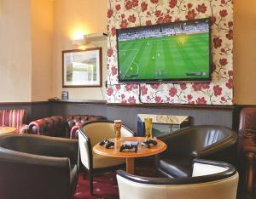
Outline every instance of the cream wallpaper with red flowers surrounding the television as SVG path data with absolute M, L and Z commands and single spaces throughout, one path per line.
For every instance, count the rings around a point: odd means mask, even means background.
M 227 0 L 109 0 L 108 102 L 232 104 L 233 3 Z M 116 29 L 211 17 L 212 82 L 118 84 Z M 141 99 L 139 99 L 141 95 Z

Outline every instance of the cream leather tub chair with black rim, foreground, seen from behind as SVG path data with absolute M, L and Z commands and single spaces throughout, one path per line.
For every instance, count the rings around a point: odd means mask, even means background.
M 236 199 L 238 173 L 224 162 L 195 160 L 191 177 L 147 178 L 117 172 L 120 199 Z

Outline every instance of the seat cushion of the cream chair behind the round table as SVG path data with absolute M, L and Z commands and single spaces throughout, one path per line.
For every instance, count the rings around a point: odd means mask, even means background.
M 93 168 L 109 168 L 125 163 L 125 158 L 101 156 L 93 152 Z

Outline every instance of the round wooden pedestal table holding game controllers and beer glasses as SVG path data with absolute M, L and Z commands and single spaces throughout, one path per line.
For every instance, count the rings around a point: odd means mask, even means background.
M 144 137 L 125 137 L 121 138 L 120 140 L 116 139 L 109 139 L 110 141 L 114 142 L 114 147 L 110 149 L 106 149 L 105 146 L 96 144 L 93 147 L 93 151 L 96 154 L 102 156 L 112 156 L 112 157 L 125 157 L 126 158 L 126 172 L 127 173 L 134 173 L 134 159 L 136 157 L 143 157 L 143 156 L 153 156 L 158 154 L 162 151 L 166 150 L 166 143 L 159 139 L 155 139 L 157 141 L 157 145 L 151 145 L 150 148 L 142 147 L 140 143 L 144 140 Z M 119 147 L 122 145 L 124 141 L 138 141 L 139 145 L 137 148 L 137 152 L 133 151 L 122 151 L 119 152 Z

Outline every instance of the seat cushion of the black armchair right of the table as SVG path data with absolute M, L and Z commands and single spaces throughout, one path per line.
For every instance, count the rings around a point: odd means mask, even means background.
M 166 177 L 180 178 L 191 176 L 191 162 L 185 158 L 165 158 L 159 162 L 159 170 Z

